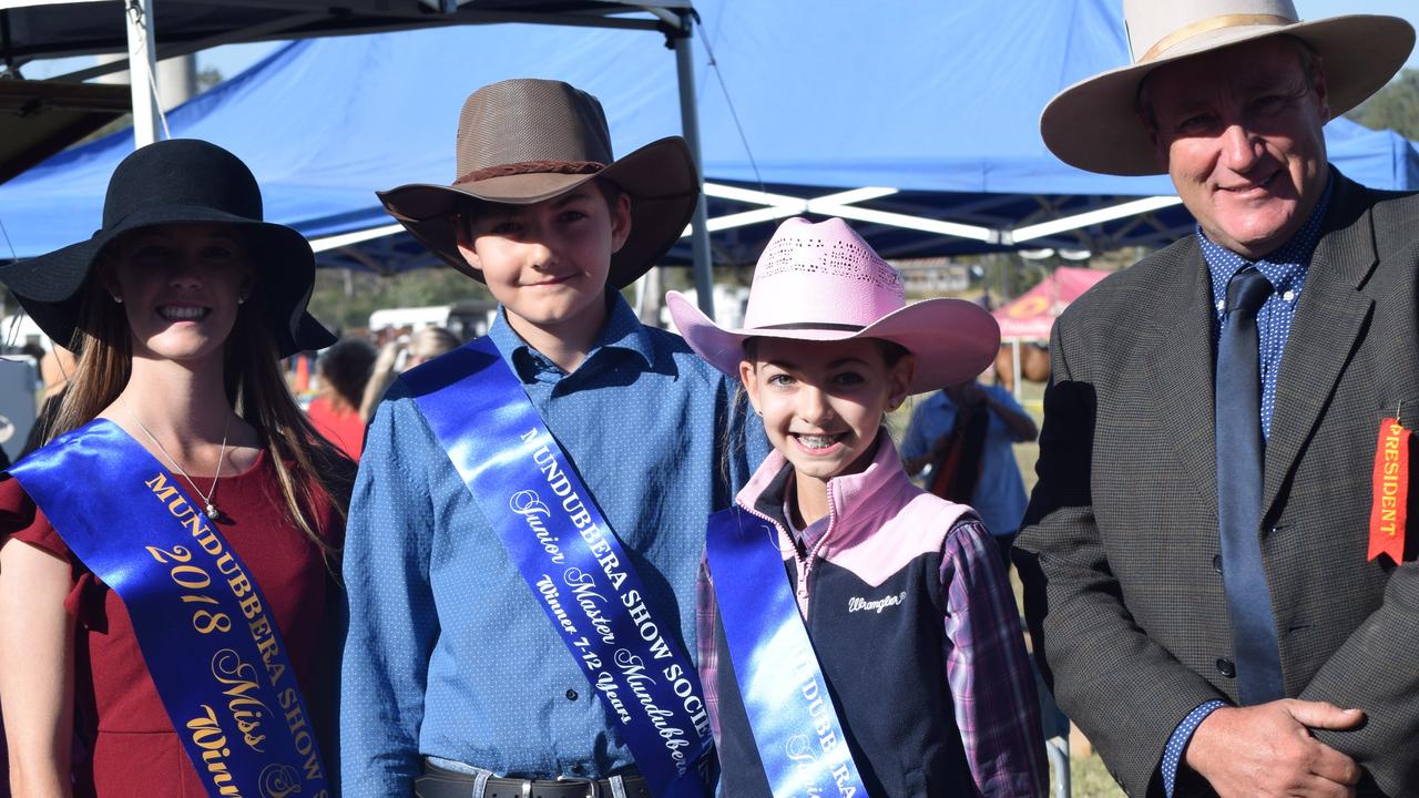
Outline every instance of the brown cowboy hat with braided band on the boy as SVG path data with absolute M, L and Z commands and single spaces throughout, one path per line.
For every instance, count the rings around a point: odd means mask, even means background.
M 532 204 L 600 177 L 630 195 L 631 226 L 607 283 L 636 281 L 684 233 L 700 197 L 680 136 L 616 160 L 602 104 L 561 81 L 515 78 L 473 92 L 458 116 L 458 177 L 377 192 L 385 210 L 448 266 L 482 280 L 458 253 L 455 213 L 470 199 Z

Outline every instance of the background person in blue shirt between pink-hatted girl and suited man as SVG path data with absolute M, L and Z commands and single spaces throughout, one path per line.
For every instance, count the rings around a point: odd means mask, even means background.
M 972 379 L 918 402 L 901 443 L 908 474 L 931 466 L 927 490 L 981 514 L 1006 569 L 1027 501 L 1013 444 L 1036 434 L 1034 419 L 1005 386 Z

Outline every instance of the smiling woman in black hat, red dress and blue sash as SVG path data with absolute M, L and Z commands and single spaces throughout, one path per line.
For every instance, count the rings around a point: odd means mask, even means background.
M 236 156 L 177 139 L 118 166 L 91 240 L 0 270 L 78 354 L 48 444 L 0 477 L 17 794 L 332 794 L 353 467 L 278 361 L 333 342 L 314 268 Z

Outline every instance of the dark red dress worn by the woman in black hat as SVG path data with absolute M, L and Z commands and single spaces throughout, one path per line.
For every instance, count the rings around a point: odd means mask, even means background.
M 339 599 L 333 598 L 338 588 L 325 559 L 289 520 L 264 452 L 244 473 L 223 477 L 213 501 L 230 518 L 217 527 L 261 585 L 263 603 L 281 630 L 307 709 L 312 720 L 319 720 L 321 692 L 332 686 L 325 674 L 335 673 L 331 663 L 339 655 L 331 629 L 339 618 Z M 338 517 L 326 511 L 319 521 L 329 535 Z M 143 665 L 128 609 L 70 554 L 13 479 L 0 483 L 0 538 L 4 535 L 74 562 L 75 585 L 65 601 L 78 621 L 74 728 L 89 753 L 87 761 L 75 761 L 75 797 L 204 798 L 207 792 Z M 326 753 L 326 770 L 329 761 Z

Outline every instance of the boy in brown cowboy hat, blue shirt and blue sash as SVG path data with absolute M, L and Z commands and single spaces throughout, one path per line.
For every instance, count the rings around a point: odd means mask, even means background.
M 690 219 L 688 151 L 616 160 L 596 98 L 512 80 L 468 98 L 457 160 L 451 186 L 380 195 L 501 308 L 406 372 L 369 430 L 346 795 L 705 795 L 692 585 L 705 514 L 751 470 L 745 417 L 620 295 Z

